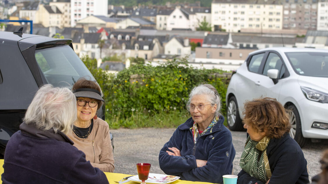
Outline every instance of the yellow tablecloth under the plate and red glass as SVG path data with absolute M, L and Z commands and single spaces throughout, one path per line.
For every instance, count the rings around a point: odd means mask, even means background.
M 2 166 L 4 163 L 4 160 L 3 159 L 0 159 L 0 166 Z M 0 167 L 0 183 L 2 184 L 2 180 L 1 180 L 1 174 L 4 172 L 4 169 L 3 167 Z M 121 180 L 122 178 L 126 177 L 126 176 L 131 176 L 131 174 L 121 174 L 121 173 L 106 173 L 104 172 L 107 176 L 107 179 L 109 181 L 110 184 L 116 184 L 114 182 L 115 181 L 119 181 Z M 136 184 L 135 182 L 133 181 L 129 181 L 129 182 L 126 182 L 126 184 Z M 196 183 L 199 183 L 199 184 L 212 184 L 212 183 L 207 183 L 207 182 L 194 182 L 194 181 L 185 181 L 185 180 L 176 180 L 170 184 L 196 184 Z

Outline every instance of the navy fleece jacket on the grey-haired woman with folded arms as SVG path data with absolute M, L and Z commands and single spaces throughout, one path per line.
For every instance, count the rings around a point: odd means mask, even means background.
M 194 120 L 189 118 L 181 124 L 159 152 L 159 166 L 163 172 L 180 176 L 182 180 L 222 183 L 222 175 L 232 172 L 236 151 L 231 133 L 223 125 L 224 117 L 219 118 L 212 131 L 202 135 L 195 145 Z M 179 149 L 181 156 L 171 156 L 166 152 L 172 147 Z M 207 160 L 206 166 L 197 168 L 196 159 Z

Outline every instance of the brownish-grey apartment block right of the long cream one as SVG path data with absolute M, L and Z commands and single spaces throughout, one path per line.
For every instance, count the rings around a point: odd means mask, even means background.
M 317 0 L 284 0 L 283 3 L 283 29 L 317 29 Z

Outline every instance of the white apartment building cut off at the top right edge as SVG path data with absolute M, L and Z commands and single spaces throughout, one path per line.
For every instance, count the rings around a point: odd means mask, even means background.
M 318 2 L 317 30 L 328 31 L 328 2 Z

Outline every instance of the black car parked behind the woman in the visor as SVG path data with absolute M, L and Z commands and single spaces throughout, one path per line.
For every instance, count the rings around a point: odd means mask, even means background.
M 63 87 L 81 77 L 95 80 L 75 54 L 70 39 L 0 32 L 0 158 L 19 130 L 26 109 L 44 84 Z M 105 106 L 98 117 L 105 119 Z M 111 135 L 112 145 L 113 136 Z

